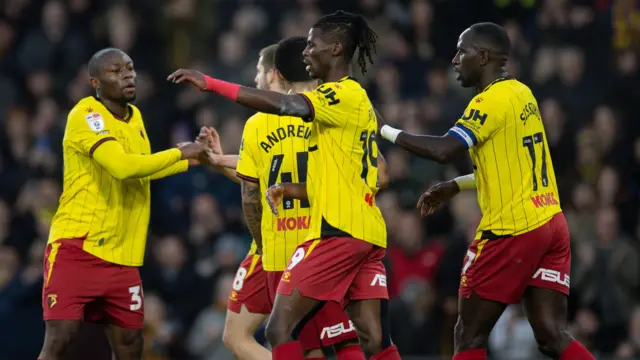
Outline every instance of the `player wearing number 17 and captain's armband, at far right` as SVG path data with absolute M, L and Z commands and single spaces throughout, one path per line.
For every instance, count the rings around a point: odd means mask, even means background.
M 439 184 L 418 205 L 429 215 L 460 189 L 477 188 L 483 214 L 462 267 L 456 360 L 486 359 L 487 339 L 507 304 L 522 301 L 540 351 L 554 359 L 593 356 L 567 333 L 569 231 L 536 98 L 504 71 L 505 30 L 465 30 L 453 59 L 458 80 L 478 94 L 444 136 L 383 126 L 381 135 L 419 156 L 447 162 L 469 150 L 474 173 Z

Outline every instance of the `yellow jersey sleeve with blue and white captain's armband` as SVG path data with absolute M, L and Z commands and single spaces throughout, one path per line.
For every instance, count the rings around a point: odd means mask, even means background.
M 495 96 L 479 94 L 469 102 L 449 134 L 460 139 L 467 149 L 490 139 L 504 126 L 505 110 Z

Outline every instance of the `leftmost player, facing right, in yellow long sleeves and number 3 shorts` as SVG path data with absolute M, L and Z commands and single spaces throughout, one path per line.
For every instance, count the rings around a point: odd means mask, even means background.
M 205 148 L 189 143 L 151 154 L 135 100 L 133 61 L 108 48 L 89 61 L 95 96 L 67 118 L 64 185 L 45 255 L 46 322 L 39 359 L 63 359 L 81 322 L 108 325 L 119 360 L 142 358 L 142 265 L 149 183 L 186 171 Z M 196 163 L 195 161 L 193 163 Z

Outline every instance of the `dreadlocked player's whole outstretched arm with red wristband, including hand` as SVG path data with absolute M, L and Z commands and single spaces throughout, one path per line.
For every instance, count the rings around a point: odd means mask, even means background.
M 173 83 L 189 82 L 202 91 L 214 92 L 253 110 L 303 119 L 311 117 L 309 103 L 302 95 L 286 95 L 275 91 L 259 90 L 214 79 L 199 71 L 180 69 L 167 77 Z

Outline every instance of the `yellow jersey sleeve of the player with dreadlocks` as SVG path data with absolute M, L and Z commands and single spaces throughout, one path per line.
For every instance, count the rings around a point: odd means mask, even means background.
M 342 126 L 349 117 L 353 96 L 338 83 L 320 85 L 300 94 L 309 104 L 311 116 L 305 122 L 318 121 L 329 126 Z

